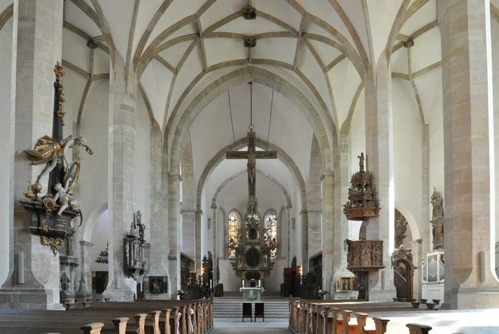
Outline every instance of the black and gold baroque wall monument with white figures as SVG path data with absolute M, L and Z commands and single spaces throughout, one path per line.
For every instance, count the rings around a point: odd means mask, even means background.
M 93 152 L 87 146 L 85 137 L 80 135 L 74 138 L 69 135 L 63 138 L 62 136 L 65 115 L 62 104 L 65 100 L 61 77 L 65 73 L 59 62 L 55 65 L 54 73 L 56 80 L 54 82 L 52 134 L 38 139 L 33 150 L 18 150 L 16 154 L 26 154 L 31 165 L 45 164 L 45 167 L 37 175 L 36 181 L 32 184 L 31 180 L 28 181 L 30 185 L 23 193 L 28 200 L 19 200 L 19 202 L 30 214 L 29 228 L 31 233 L 39 235 L 41 244 L 50 246 L 55 256 L 63 241 L 73 235 L 73 221 L 77 216 L 80 218 L 82 216 L 78 209 L 78 204 L 81 201 L 74 199 L 71 192 L 80 172 L 80 159 L 69 163 L 68 150 L 76 146 L 83 146 L 88 154 L 91 155 Z M 43 189 L 40 182 L 47 174 L 49 175 L 47 193 L 40 196 Z

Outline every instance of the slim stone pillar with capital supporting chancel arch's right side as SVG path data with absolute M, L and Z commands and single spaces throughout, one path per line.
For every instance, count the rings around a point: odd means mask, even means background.
M 322 288 L 334 289 L 334 172 L 324 171 L 322 181 Z

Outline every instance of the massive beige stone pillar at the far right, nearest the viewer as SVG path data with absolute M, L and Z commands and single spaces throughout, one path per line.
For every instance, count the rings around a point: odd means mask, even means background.
M 493 277 L 494 170 L 490 4 L 439 2 L 445 167 L 445 302 L 451 309 L 499 306 Z M 485 256 L 485 263 L 481 257 Z

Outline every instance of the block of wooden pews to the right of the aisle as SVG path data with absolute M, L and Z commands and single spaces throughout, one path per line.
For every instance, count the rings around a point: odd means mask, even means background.
M 325 301 L 315 303 L 289 299 L 289 330 L 297 334 L 384 334 L 389 319 L 373 317 L 374 328 L 366 326 L 369 315 L 331 307 Z M 430 326 L 407 324 L 409 334 L 427 334 Z M 407 332 L 406 332 L 407 333 Z

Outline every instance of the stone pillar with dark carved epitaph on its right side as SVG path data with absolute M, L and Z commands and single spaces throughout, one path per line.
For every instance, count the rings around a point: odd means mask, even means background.
M 116 51 L 109 76 L 109 282 L 103 298 L 133 301 L 136 281 L 125 271 L 123 239 L 134 216 L 134 151 L 137 82 L 133 70 L 126 79 L 123 58 Z

